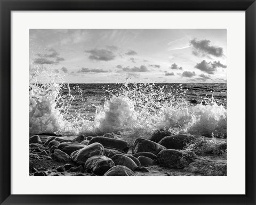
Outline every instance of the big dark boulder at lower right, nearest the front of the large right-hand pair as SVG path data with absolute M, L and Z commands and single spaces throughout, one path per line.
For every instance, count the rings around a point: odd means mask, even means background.
M 195 159 L 183 150 L 165 149 L 158 153 L 159 165 L 170 168 L 184 168 Z

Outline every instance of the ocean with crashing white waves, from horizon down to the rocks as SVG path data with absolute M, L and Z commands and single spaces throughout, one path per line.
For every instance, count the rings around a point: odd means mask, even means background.
M 227 134 L 226 83 L 49 83 L 29 90 L 30 134 Z

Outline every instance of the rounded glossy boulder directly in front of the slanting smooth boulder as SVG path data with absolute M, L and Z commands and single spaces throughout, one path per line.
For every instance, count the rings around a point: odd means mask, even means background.
M 87 159 L 84 169 L 89 173 L 103 175 L 114 166 L 113 160 L 106 156 L 93 156 Z

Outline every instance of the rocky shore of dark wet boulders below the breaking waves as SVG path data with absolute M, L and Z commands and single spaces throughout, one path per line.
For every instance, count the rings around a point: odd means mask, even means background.
M 226 139 L 155 132 L 132 145 L 121 135 L 29 138 L 31 176 L 227 175 Z

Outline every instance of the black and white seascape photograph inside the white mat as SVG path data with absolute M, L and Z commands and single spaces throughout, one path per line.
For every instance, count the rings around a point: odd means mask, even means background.
M 227 176 L 227 57 L 227 29 L 29 29 L 29 176 Z

